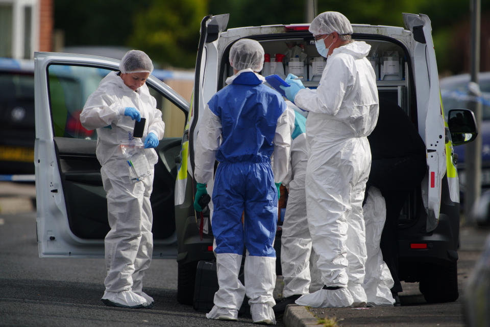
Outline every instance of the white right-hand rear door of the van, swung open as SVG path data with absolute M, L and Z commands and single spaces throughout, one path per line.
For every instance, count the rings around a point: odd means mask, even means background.
M 431 231 L 437 227 L 439 220 L 442 182 L 447 171 L 445 122 L 440 101 L 439 77 L 430 19 L 423 14 L 404 13 L 403 20 L 405 28 L 412 32 L 413 39 L 416 41 L 411 60 L 414 67 L 419 130 L 425 131 L 425 135 L 421 133 L 421 136 L 424 138 L 427 149 L 428 174 L 422 181 L 422 198 L 428 216 L 426 229 Z M 451 182 L 454 182 L 454 177 L 457 183 L 455 170 L 448 171 L 450 185 Z M 455 193 L 454 190 L 452 193 Z M 458 195 L 455 194 L 451 194 L 451 199 L 459 201 Z

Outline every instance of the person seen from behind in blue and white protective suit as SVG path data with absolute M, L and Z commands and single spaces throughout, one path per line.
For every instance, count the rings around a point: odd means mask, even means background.
M 253 322 L 275 324 L 273 243 L 278 189 L 289 166 L 288 111 L 279 92 L 265 86 L 265 78 L 257 74 L 264 61 L 259 42 L 250 39 L 235 42 L 229 60 L 234 75 L 207 103 L 194 147 L 196 211 L 202 210 L 198 201 L 207 194 L 206 183 L 213 182 L 214 162 L 219 162 L 211 219 L 219 289 L 214 295 L 214 307 L 206 317 L 237 320 L 247 294 Z M 243 286 L 238 273 L 244 246 L 247 253 Z

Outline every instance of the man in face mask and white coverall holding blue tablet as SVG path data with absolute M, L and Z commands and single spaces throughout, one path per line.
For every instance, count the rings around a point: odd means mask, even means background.
M 378 119 L 376 77 L 366 59 L 371 46 L 351 39 L 352 26 L 338 12 L 316 16 L 309 31 L 318 53 L 327 57 L 318 88 L 307 89 L 288 76 L 290 86 L 284 91 L 289 100 L 309 111 L 307 218 L 325 286 L 303 295 L 296 303 L 311 307 L 365 306 L 362 201 L 371 166 L 366 136 Z

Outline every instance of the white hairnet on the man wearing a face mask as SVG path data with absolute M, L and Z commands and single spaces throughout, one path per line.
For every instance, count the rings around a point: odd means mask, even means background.
M 337 11 L 326 11 L 316 16 L 308 31 L 313 35 L 337 32 L 340 35 L 352 34 L 352 25 L 346 16 Z

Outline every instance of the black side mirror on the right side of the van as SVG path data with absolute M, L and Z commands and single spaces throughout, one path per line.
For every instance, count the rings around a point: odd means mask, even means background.
M 448 127 L 453 145 L 472 142 L 478 135 L 475 115 L 469 109 L 449 110 Z

